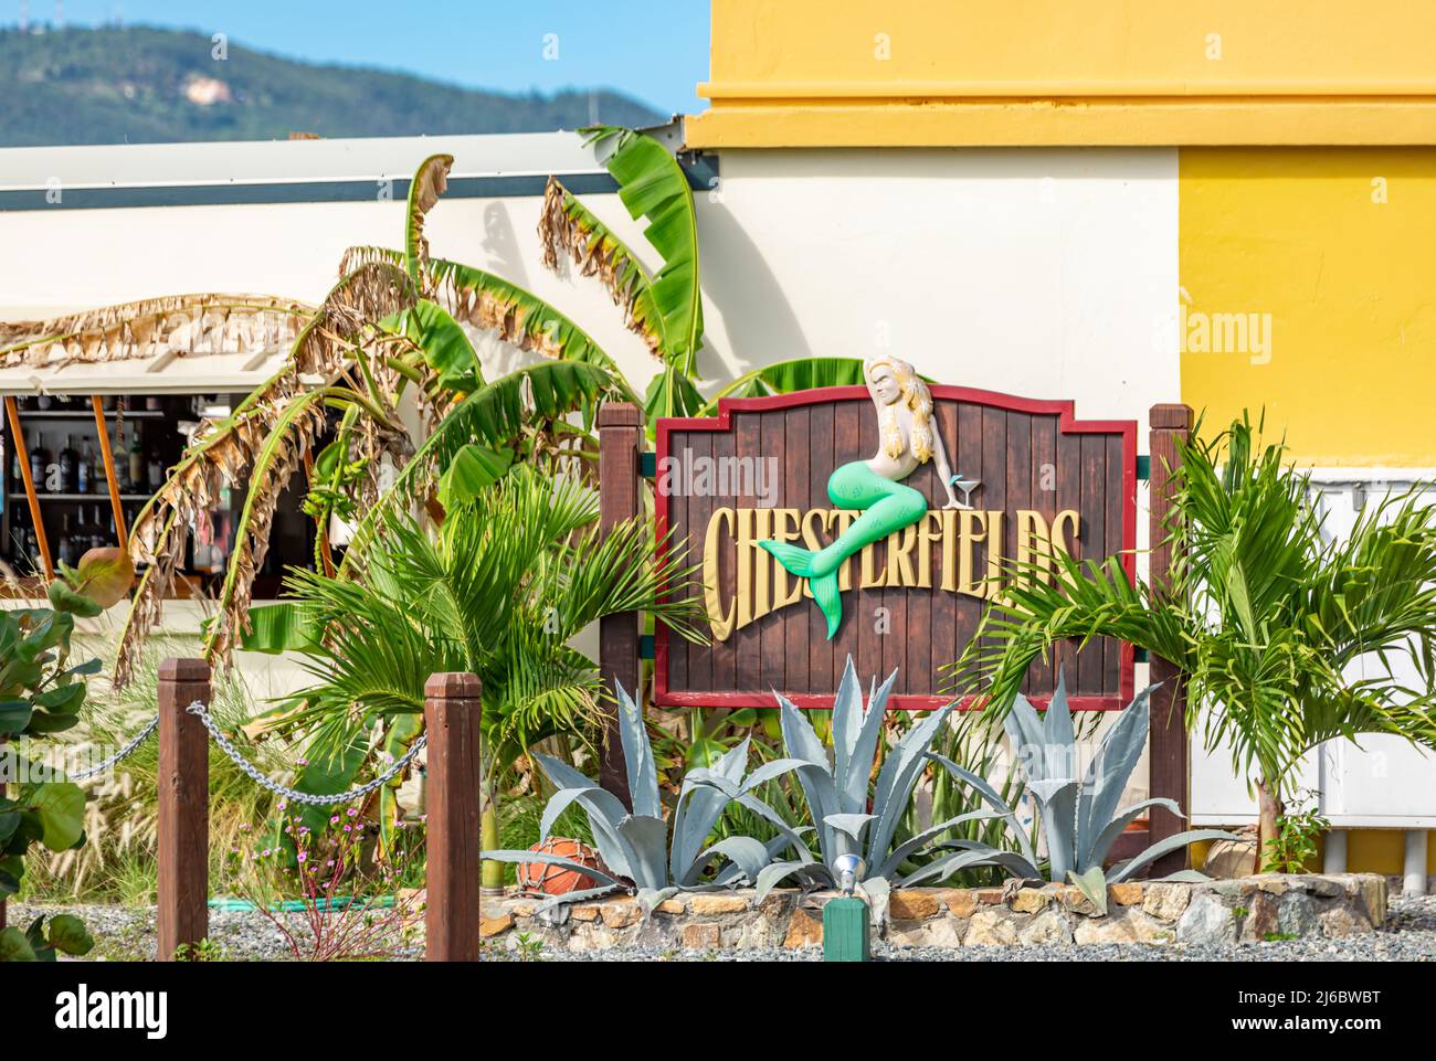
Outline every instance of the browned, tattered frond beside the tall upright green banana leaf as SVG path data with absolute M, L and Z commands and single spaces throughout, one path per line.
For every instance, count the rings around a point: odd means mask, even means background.
M 559 253 L 564 251 L 580 276 L 596 276 L 609 289 L 613 304 L 623 310 L 623 324 L 643 340 L 649 353 L 663 357 L 663 314 L 653 302 L 648 271 L 633 251 L 556 177 L 550 177 L 544 188 L 538 241 L 543 244 L 544 266 L 557 271 Z

